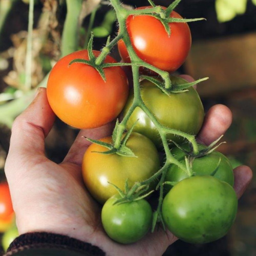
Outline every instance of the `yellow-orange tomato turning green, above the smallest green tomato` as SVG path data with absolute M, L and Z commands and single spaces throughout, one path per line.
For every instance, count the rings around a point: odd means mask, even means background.
M 112 138 L 106 137 L 101 141 L 112 143 Z M 108 148 L 95 143 L 89 146 L 83 156 L 84 183 L 91 195 L 101 204 L 117 193 L 112 184 L 124 190 L 126 180 L 131 187 L 135 182 L 150 178 L 160 168 L 157 148 L 147 137 L 132 133 L 126 146 L 132 150 L 135 157 L 97 153 L 108 151 Z

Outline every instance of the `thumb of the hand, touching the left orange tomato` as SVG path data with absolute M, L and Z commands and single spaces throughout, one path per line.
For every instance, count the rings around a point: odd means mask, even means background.
M 8 158 L 14 155 L 20 158 L 26 154 L 30 157 L 44 154 L 45 137 L 50 132 L 54 119 L 55 115 L 48 103 L 46 89 L 39 88 L 35 99 L 13 123 Z

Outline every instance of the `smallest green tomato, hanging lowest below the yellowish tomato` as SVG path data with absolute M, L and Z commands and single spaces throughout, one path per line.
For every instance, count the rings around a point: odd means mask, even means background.
M 114 241 L 122 244 L 134 243 L 145 236 L 152 224 L 152 209 L 144 200 L 114 204 L 119 195 L 105 202 L 101 220 L 105 232 Z

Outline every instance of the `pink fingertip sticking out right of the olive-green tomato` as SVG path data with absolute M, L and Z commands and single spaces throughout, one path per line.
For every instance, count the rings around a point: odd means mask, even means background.
M 209 145 L 227 131 L 231 122 L 232 113 L 227 106 L 222 104 L 212 106 L 205 115 L 198 134 L 198 142 Z

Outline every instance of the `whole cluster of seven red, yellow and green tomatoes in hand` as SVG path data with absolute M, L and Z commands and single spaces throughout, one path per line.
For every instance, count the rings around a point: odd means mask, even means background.
M 175 11 L 168 15 L 182 18 Z M 166 27 L 154 15 L 130 15 L 125 22 L 128 44 L 144 63 L 172 73 L 185 61 L 191 45 L 187 23 L 169 22 L 171 33 L 168 35 Z M 118 41 L 119 53 L 123 62 L 133 63 L 131 47 L 124 41 L 124 37 Z M 237 211 L 233 172 L 225 156 L 210 153 L 203 145 L 198 145 L 200 154 L 193 155 L 191 145 L 184 144 L 181 149 L 172 144 L 171 153 L 180 165 L 169 164 L 165 176 L 161 176 L 165 166 L 164 159 L 159 157 L 163 140 L 182 144 L 186 142 L 182 134 L 196 136 L 201 129 L 204 109 L 196 90 L 193 87 L 163 90 L 154 82 L 161 80 L 158 76 L 154 81 L 140 79 L 139 97 L 132 90 L 129 95 L 123 70 L 114 65 L 104 66 L 102 76 L 99 63 L 93 62 L 97 56 L 101 56 L 100 52 L 82 50 L 60 59 L 50 73 L 47 96 L 56 115 L 79 129 L 108 123 L 123 110 L 125 129 L 118 123 L 116 127 L 123 129 L 122 138 L 126 138 L 125 132 L 129 136 L 119 143 L 119 130 L 115 129 L 112 137 L 93 141 L 82 161 L 84 184 L 92 197 L 103 204 L 101 218 L 106 233 L 124 244 L 145 236 L 154 219 L 147 202 L 148 192 L 160 187 L 165 196 L 157 209 L 162 216 L 158 219 L 178 238 L 190 243 L 206 243 L 224 236 Z M 106 56 L 104 63 L 116 61 Z M 156 75 L 155 71 L 142 69 L 142 73 L 144 71 Z M 179 77 L 169 78 L 176 87 L 186 83 Z M 136 101 L 141 104 L 137 103 L 131 112 Z M 166 132 L 163 139 L 161 129 L 172 132 Z M 166 147 L 165 143 L 165 152 Z M 181 166 L 186 166 L 187 172 Z M 162 183 L 160 177 L 165 177 Z

